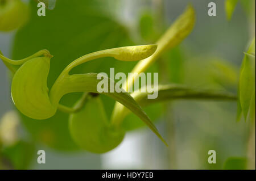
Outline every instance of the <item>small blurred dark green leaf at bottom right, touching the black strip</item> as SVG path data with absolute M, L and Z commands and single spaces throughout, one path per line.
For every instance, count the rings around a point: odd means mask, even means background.
M 243 157 L 230 157 L 224 163 L 224 170 L 245 170 L 246 158 Z

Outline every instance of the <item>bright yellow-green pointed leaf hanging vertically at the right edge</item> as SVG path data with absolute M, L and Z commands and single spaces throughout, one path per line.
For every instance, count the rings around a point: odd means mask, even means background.
M 245 120 L 247 119 L 247 114 L 249 112 L 251 104 L 251 98 L 255 90 L 255 55 L 250 54 L 255 54 L 255 38 L 251 43 L 247 53 L 245 53 L 245 57 L 243 58 L 239 83 L 239 97 Z

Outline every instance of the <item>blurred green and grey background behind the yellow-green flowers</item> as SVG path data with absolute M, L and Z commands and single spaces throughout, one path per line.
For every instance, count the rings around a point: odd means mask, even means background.
M 255 36 L 255 2 L 245 1 L 247 4 L 238 3 L 231 20 L 226 19 L 224 1 L 57 0 L 55 9 L 42 17 L 36 15 L 36 2 L 30 1 L 30 20 L 18 31 L 0 32 L 0 49 L 14 60 L 48 49 L 54 56 L 48 77 L 51 87 L 61 70 L 84 54 L 154 43 L 190 2 L 196 11 L 191 35 L 164 53 L 148 71 L 158 71 L 160 82 L 236 93 L 243 52 Z M 216 3 L 217 16 L 208 16 L 209 2 Z M 109 73 L 109 68 L 115 68 L 115 72 L 127 73 L 135 64 L 101 58 L 72 71 Z M 7 132 L 2 136 L 7 140 L 1 150 L 2 168 L 223 169 L 226 159 L 247 155 L 248 123 L 236 122 L 236 102 L 179 100 L 147 107 L 144 110 L 155 120 L 168 148 L 142 127 L 127 132 L 116 149 L 98 155 L 75 145 L 67 114 L 57 112 L 38 121 L 18 113 L 11 101 L 10 75 L 2 61 L 0 85 L 0 124 Z M 64 96 L 61 103 L 72 106 L 80 95 Z M 110 117 L 114 101 L 102 99 Z M 129 120 L 138 119 L 128 116 L 127 127 Z M 37 163 L 41 149 L 46 150 L 45 164 Z M 216 151 L 216 164 L 208 163 L 209 150 Z

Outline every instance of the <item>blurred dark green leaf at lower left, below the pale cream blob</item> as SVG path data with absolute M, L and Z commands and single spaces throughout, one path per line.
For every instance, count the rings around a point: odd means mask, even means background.
M 28 169 L 35 155 L 35 146 L 31 142 L 19 141 L 4 148 L 3 155 L 11 161 L 14 169 Z

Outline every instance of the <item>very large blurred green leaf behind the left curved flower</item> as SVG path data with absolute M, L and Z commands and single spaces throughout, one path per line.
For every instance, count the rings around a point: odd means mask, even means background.
M 16 33 L 13 59 L 18 60 L 40 49 L 48 49 L 54 56 L 48 76 L 48 87 L 51 88 L 65 66 L 76 58 L 97 50 L 131 45 L 125 28 L 101 14 L 102 11 L 97 10 L 93 2 L 61 0 L 57 2 L 55 10 L 49 11 L 44 18 L 32 16 L 27 26 Z M 31 1 L 31 5 L 32 14 L 36 14 L 36 2 Z M 76 20 L 77 17 L 84 22 Z M 114 58 L 101 58 L 77 66 L 71 74 L 109 72 L 115 62 Z M 125 66 L 129 68 L 131 64 L 119 63 L 124 72 Z M 80 95 L 65 95 L 60 103 L 71 107 Z M 107 101 L 105 105 L 109 106 L 112 100 Z M 59 150 L 76 150 L 77 145 L 69 134 L 68 116 L 67 113 L 57 111 L 50 119 L 33 120 L 20 113 L 25 127 L 36 141 Z

